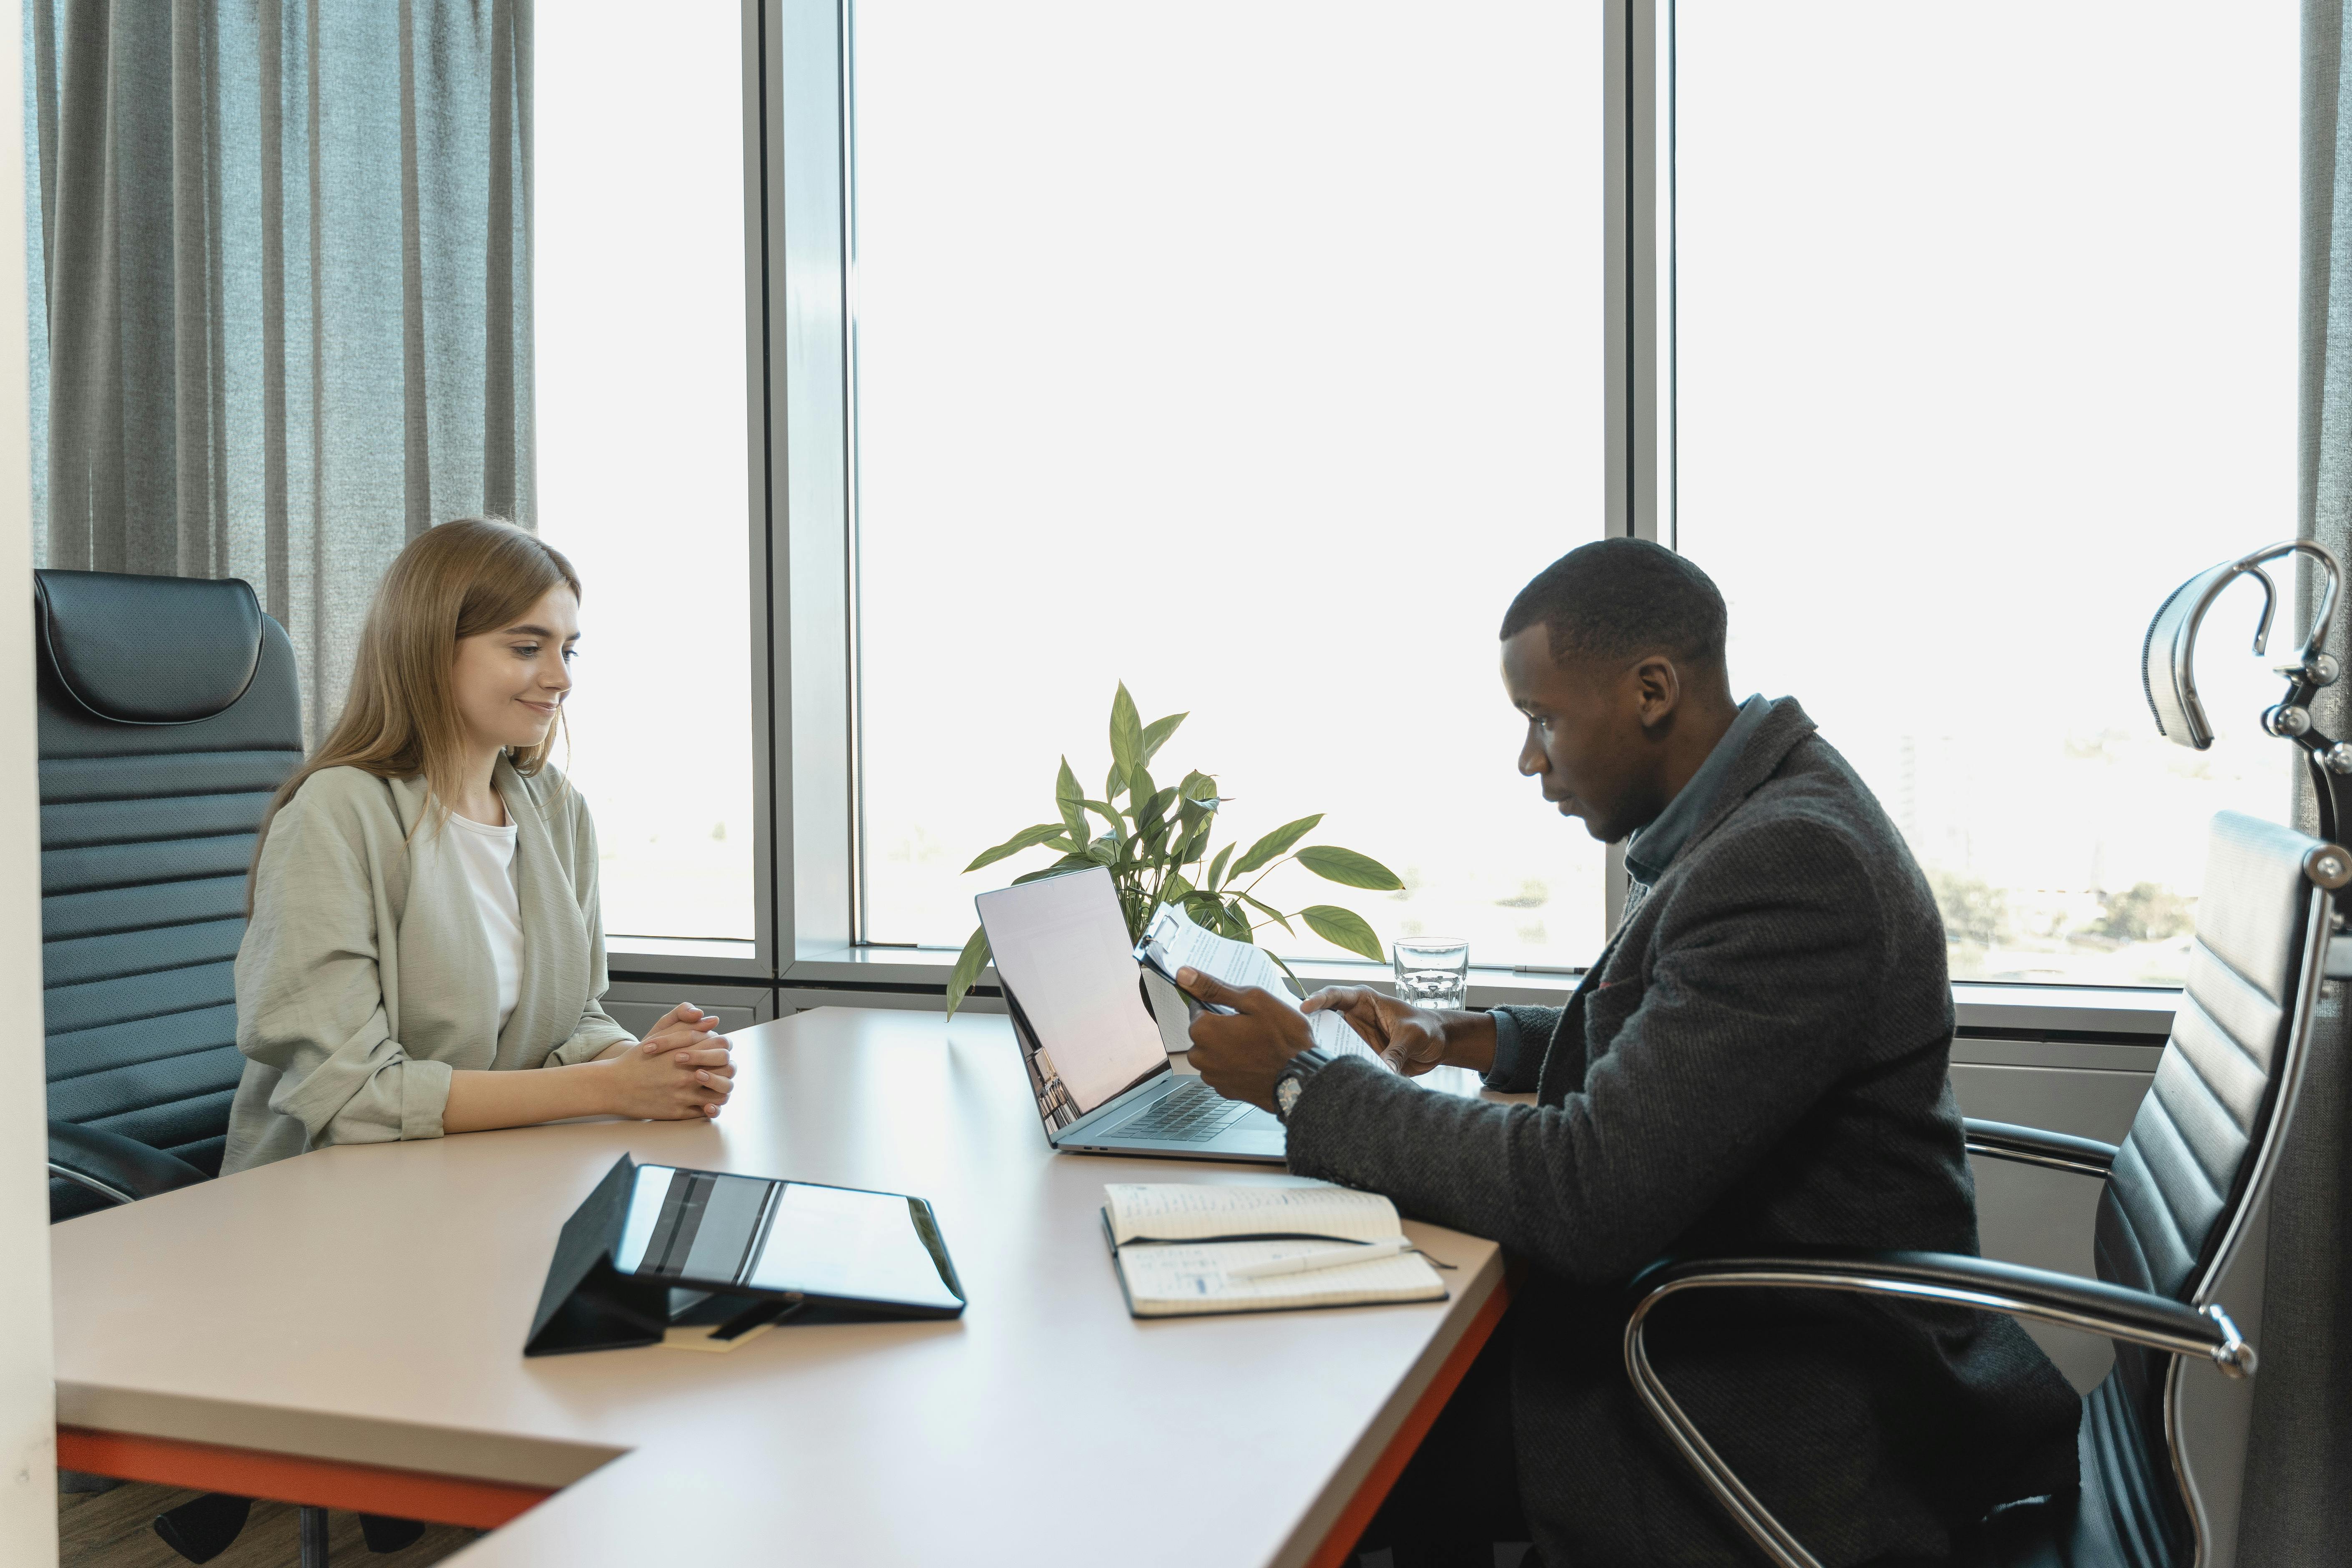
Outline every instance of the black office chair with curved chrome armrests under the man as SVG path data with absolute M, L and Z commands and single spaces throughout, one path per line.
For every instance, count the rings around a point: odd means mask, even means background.
M 2270 635 L 2279 592 L 2265 562 L 2310 555 L 2326 585 L 2293 663 L 2279 665 L 2286 698 L 2263 726 L 2310 759 L 2319 839 L 2223 811 L 2213 818 L 2204 893 L 2197 903 L 2190 980 L 2157 1077 L 2122 1145 L 1969 1121 L 1971 1154 L 2074 1171 L 2105 1182 L 2098 1201 L 2098 1279 L 2074 1279 L 1952 1253 L 1830 1253 L 1710 1258 L 1651 1265 L 1632 1284 L 1625 1371 L 1642 1403 L 1698 1479 L 1780 1568 L 1818 1568 L 1804 1544 L 1748 1490 L 1658 1380 L 1644 1321 L 1670 1295 L 1705 1288 L 1792 1288 L 1891 1295 L 2084 1328 L 2114 1340 L 2114 1371 L 2086 1399 L 2077 1453 L 2082 1490 L 1997 1509 L 1955 1540 L 1962 1568 L 2197 1568 L 2206 1516 L 2180 1458 L 2180 1361 L 2211 1359 L 2253 1373 L 2253 1347 L 2213 1288 L 2263 1199 L 2296 1112 L 2310 1051 L 2312 1004 L 2326 978 L 2352 969 L 2333 954 L 2352 900 L 2352 745 L 2312 724 L 2310 701 L 2338 679 L 2321 651 L 2338 590 L 2336 557 L 2310 541 L 2267 545 L 2183 583 L 2157 611 L 2143 644 L 2143 677 L 2157 729 L 2206 750 L 2194 682 L 2194 642 L 2213 599 L 2241 576 L 2260 583 Z

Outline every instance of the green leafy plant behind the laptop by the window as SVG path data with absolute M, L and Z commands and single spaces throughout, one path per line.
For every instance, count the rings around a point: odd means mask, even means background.
M 1061 773 L 1054 778 L 1054 820 L 1023 827 L 995 849 L 981 851 L 964 872 L 995 865 L 1025 849 L 1051 849 L 1058 856 L 1051 865 L 1023 872 L 1014 882 L 1101 865 L 1120 893 L 1120 912 L 1127 917 L 1131 940 L 1143 938 L 1143 924 L 1152 910 L 1174 903 L 1195 924 L 1237 943 L 1254 943 L 1265 926 L 1282 926 L 1298 936 L 1298 929 L 1291 926 L 1296 919 L 1336 947 L 1362 952 L 1374 964 L 1385 959 L 1381 938 L 1355 910 L 1310 903 L 1284 914 L 1258 898 L 1258 884 L 1289 863 L 1308 867 L 1324 882 L 1374 893 L 1395 893 L 1404 886 L 1392 870 L 1371 856 L 1336 844 L 1301 844 L 1322 823 L 1319 811 L 1275 827 L 1240 856 L 1232 853 L 1230 842 L 1211 853 L 1216 813 L 1225 804 L 1225 797 L 1216 792 L 1216 778 L 1190 771 L 1174 785 L 1160 785 L 1150 771 L 1160 748 L 1185 717 L 1171 712 L 1145 724 L 1136 712 L 1136 698 L 1127 693 L 1122 682 L 1117 696 L 1110 698 L 1110 773 L 1103 778 L 1101 797 L 1080 788 L 1070 759 L 1063 757 Z M 1096 832 L 1096 818 L 1101 832 Z M 1268 952 L 1268 957 L 1282 964 L 1279 954 Z M 950 1018 L 981 976 L 983 964 L 988 964 L 988 931 L 978 929 L 964 943 L 962 957 L 955 959 L 955 973 L 948 976 Z M 1282 964 L 1282 971 L 1289 973 L 1291 966 Z M 1291 978 L 1296 980 L 1296 976 Z

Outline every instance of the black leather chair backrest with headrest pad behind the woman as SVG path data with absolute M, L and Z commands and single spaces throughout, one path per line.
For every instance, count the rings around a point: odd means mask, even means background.
M 238 581 L 35 571 L 49 1117 L 221 1168 L 245 867 L 301 762 L 285 630 Z M 52 1215 L 103 1206 L 49 1180 Z

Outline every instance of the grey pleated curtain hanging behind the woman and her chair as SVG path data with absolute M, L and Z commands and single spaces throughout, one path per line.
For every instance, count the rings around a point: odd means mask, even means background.
M 532 0 L 28 0 L 24 45 L 38 557 L 252 581 L 315 736 L 400 545 L 534 517 Z

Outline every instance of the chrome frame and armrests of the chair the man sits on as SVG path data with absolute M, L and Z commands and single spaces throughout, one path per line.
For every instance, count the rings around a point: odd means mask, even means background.
M 1752 1490 L 1724 1465 L 1715 1446 L 1675 1403 L 1658 1371 L 1651 1366 L 1644 1345 L 1649 1314 L 1670 1295 L 1682 1291 L 1712 1288 L 1783 1288 L 1783 1291 L 1849 1291 L 1858 1295 L 1886 1295 L 1898 1300 L 1938 1302 L 1947 1307 L 1971 1307 L 1978 1312 L 2002 1312 L 2016 1319 L 2053 1324 L 2058 1328 L 2084 1328 L 2103 1333 L 2126 1345 L 2169 1352 L 2173 1356 L 2164 1375 L 2164 1443 L 2171 1450 L 2173 1481 L 2190 1516 L 2192 1568 L 2206 1561 L 2206 1514 L 2197 1493 L 2197 1481 L 2180 1462 L 2180 1361 L 2183 1356 L 2211 1359 L 2230 1378 L 2251 1378 L 2256 1368 L 2253 1347 L 2239 1333 L 2230 1314 L 2211 1300 L 2230 1260 L 2244 1241 L 2246 1218 L 2260 1208 L 2263 1194 L 2279 1164 L 2286 1128 L 2293 1124 L 2296 1095 L 2303 1088 L 2303 1067 L 2310 1056 L 2312 1009 L 2324 983 L 2328 938 L 2331 886 L 2319 882 L 2312 867 L 2328 846 L 2314 849 L 2305 858 L 2310 879 L 2307 936 L 2296 983 L 2293 1025 L 2286 1037 L 2286 1053 L 2279 1063 L 2279 1095 L 2270 1126 L 2253 1152 L 2253 1171 L 2246 1190 L 2223 1227 L 2220 1246 L 2204 1274 L 2197 1276 L 2187 1302 L 2152 1291 L 2133 1291 L 2100 1279 L 2079 1279 L 2053 1269 L 2034 1269 L 2016 1262 L 1992 1262 L 1962 1253 L 1872 1253 L 1872 1251 L 1811 1251 L 1778 1258 L 1696 1258 L 1661 1260 L 1632 1281 L 1632 1314 L 1625 1324 L 1625 1375 L 1698 1474 L 1722 1509 L 1778 1568 L 1820 1568 L 1820 1559 L 1804 1549 L 1790 1530 L 1773 1519 Z M 2328 882 L 2338 882 L 2328 877 Z M 2044 1133 L 2039 1128 L 2009 1126 L 2004 1121 L 1966 1121 L 1966 1150 L 1987 1159 L 2072 1171 L 2079 1175 L 2107 1178 L 2117 1147 L 2096 1138 L 2067 1133 Z

